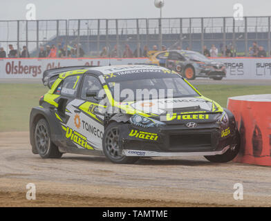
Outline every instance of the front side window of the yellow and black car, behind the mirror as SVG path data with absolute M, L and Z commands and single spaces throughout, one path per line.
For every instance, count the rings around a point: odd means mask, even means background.
M 94 77 L 92 75 L 86 75 L 84 77 L 84 83 L 82 86 L 82 91 L 81 91 L 81 98 L 82 99 L 93 99 L 91 97 L 86 97 L 86 92 L 88 90 L 96 91 L 97 94 L 99 94 L 100 90 L 102 90 L 102 84 L 100 81 L 97 79 L 97 77 Z

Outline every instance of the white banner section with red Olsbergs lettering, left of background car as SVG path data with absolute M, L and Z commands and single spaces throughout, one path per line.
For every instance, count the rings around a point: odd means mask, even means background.
M 106 66 L 115 64 L 142 64 L 149 59 L 0 59 L 0 78 L 40 79 L 44 70 L 65 66 Z

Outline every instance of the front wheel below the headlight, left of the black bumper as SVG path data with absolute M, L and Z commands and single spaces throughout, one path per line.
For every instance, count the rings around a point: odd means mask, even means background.
M 134 164 L 139 157 L 127 157 L 119 150 L 119 128 L 122 123 L 112 122 L 106 127 L 102 137 L 102 149 L 104 155 L 115 164 Z

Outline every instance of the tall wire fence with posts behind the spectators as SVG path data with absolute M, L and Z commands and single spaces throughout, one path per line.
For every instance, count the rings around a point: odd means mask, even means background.
M 162 19 L 77 19 L 39 21 L 0 21 L 0 44 L 8 52 L 8 44 L 15 49 L 27 46 L 30 57 L 37 57 L 40 46 L 80 45 L 84 57 L 100 57 L 102 48 L 118 48 L 122 57 L 124 46 L 131 50 L 162 44 L 202 52 L 212 44 L 222 52 L 223 46 L 234 46 L 238 56 L 247 56 L 253 41 L 263 46 L 270 55 L 270 17 L 170 18 Z M 78 54 L 77 54 L 78 55 Z

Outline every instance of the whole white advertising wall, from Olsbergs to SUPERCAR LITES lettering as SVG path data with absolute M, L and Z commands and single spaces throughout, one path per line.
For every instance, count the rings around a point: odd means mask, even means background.
M 226 79 L 271 79 L 271 58 L 213 58 L 225 64 Z M 44 70 L 64 66 L 144 64 L 149 59 L 0 59 L 0 78 L 41 78 Z

